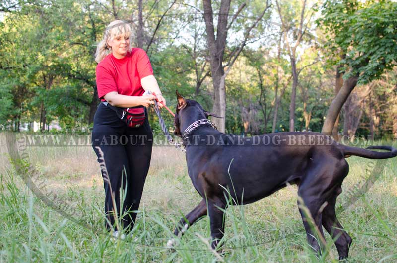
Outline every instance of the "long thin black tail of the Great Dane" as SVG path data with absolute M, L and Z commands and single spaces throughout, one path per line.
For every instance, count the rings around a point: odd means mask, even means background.
M 388 150 L 388 152 L 377 152 L 373 150 Z M 351 155 L 360 156 L 368 159 L 387 159 L 397 156 L 397 149 L 392 146 L 369 146 L 366 149 L 351 147 L 343 145 L 341 149 L 345 157 L 350 157 Z

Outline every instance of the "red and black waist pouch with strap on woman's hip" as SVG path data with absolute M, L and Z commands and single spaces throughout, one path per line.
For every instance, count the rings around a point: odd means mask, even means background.
M 122 120 L 128 127 L 138 128 L 145 122 L 146 108 L 143 106 L 120 108 L 110 105 L 107 101 L 103 101 L 102 103 L 114 110 L 117 117 L 119 117 L 120 120 Z

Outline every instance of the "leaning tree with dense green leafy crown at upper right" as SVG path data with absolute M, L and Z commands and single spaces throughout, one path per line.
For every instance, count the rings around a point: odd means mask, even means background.
M 379 79 L 397 59 L 397 3 L 327 0 L 319 23 L 329 32 L 328 50 L 340 49 L 346 57 L 344 83 L 328 110 L 322 132 L 331 135 L 337 116 L 357 84 Z M 343 22 L 340 22 L 343 21 Z M 340 54 L 340 53 L 338 53 Z

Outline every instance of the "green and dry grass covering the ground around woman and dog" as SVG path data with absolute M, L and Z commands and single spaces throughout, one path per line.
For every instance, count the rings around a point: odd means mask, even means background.
M 1 138 L 4 140 L 4 138 Z M 6 145 L 2 141 L 1 145 Z M 395 145 L 396 146 L 396 145 Z M 208 249 L 209 219 L 191 227 L 177 250 L 165 248 L 182 215 L 200 201 L 187 174 L 184 154 L 155 147 L 133 237 L 113 240 L 104 229 L 103 180 L 91 147 L 28 147 L 29 162 L 48 191 L 75 213 L 71 220 L 42 202 L 0 152 L 0 262 L 319 262 L 306 242 L 296 187 L 282 189 L 254 204 L 227 209 L 225 256 Z M 348 189 L 363 182 L 368 160 L 347 159 L 350 172 L 337 205 Z M 338 214 L 353 244 L 347 262 L 397 262 L 397 162 L 389 159 L 379 179 Z M 326 234 L 328 253 L 337 262 Z

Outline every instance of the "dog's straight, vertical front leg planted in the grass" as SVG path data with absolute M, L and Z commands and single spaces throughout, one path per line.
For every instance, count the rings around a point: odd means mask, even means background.
M 208 216 L 211 226 L 212 248 L 218 252 L 222 252 L 223 245 L 218 247 L 219 241 L 222 239 L 225 232 L 225 217 L 224 211 L 226 203 L 221 199 L 208 199 Z

